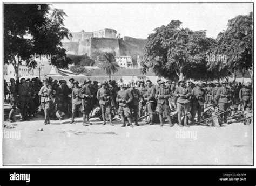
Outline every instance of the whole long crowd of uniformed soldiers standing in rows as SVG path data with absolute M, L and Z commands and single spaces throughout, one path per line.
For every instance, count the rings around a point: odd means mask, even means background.
M 50 124 L 50 119 L 56 119 L 62 114 L 71 117 L 70 124 L 73 124 L 76 112 L 81 111 L 83 125 L 90 126 L 90 114 L 98 106 L 102 112 L 103 125 L 108 120 L 113 125 L 112 118 L 116 112 L 122 120 L 122 127 L 126 126 L 126 120 L 128 126 L 133 127 L 133 121 L 134 125 L 139 126 L 138 121 L 142 118 L 146 119 L 147 125 L 153 125 L 157 113 L 160 126 L 167 119 L 172 127 L 174 121 L 171 112 L 176 111 L 178 125 L 190 127 L 200 122 L 206 104 L 218 107 L 224 122 L 230 105 L 242 103 L 243 109 L 251 109 L 252 106 L 252 87 L 247 82 L 233 87 L 231 82 L 226 81 L 194 84 L 185 80 L 165 82 L 158 78 L 157 84 L 153 85 L 150 80 L 129 83 L 110 80 L 98 83 L 86 79 L 80 87 L 79 82 L 73 78 L 66 82 L 49 77 L 41 82 L 36 77 L 31 80 L 21 78 L 20 82 L 11 78 L 7 90 L 11 105 L 8 117 L 10 122 L 15 121 L 17 106 L 20 110 L 19 121 L 37 117 L 38 112 L 43 110 L 44 124 Z

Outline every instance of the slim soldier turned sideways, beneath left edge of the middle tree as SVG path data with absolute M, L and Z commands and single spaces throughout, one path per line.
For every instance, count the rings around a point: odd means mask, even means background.
M 156 99 L 154 98 L 155 94 L 156 94 L 156 89 L 154 88 L 154 86 L 152 85 L 152 82 L 150 80 L 146 81 L 147 83 L 147 92 L 146 92 L 146 97 L 145 100 L 147 101 L 146 103 L 146 111 L 147 113 L 149 113 L 150 116 L 150 123 L 147 125 L 153 125 L 153 113 L 155 110 L 155 101 Z

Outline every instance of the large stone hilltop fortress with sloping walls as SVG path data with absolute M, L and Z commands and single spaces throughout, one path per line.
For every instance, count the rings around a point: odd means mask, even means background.
M 64 39 L 63 47 L 67 54 L 91 56 L 100 65 L 104 60 L 104 53 L 111 52 L 116 56 L 131 56 L 133 66 L 138 66 L 137 59 L 142 58 L 146 39 L 120 37 L 116 30 L 105 28 L 95 32 L 71 33 L 72 38 Z M 138 57 L 139 56 L 139 57 Z

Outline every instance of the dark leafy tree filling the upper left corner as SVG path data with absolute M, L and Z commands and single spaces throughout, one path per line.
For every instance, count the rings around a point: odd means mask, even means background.
M 50 65 L 57 68 L 72 63 L 61 42 L 72 37 L 63 24 L 66 14 L 53 9 L 49 15 L 50 10 L 47 4 L 4 4 L 4 63 L 14 66 L 17 80 L 22 61 L 35 68 L 37 55 L 50 56 Z

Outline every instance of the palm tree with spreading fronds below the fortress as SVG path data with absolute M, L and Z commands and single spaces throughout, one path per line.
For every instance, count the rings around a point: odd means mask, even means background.
M 116 58 L 113 53 L 106 52 L 104 54 L 105 61 L 102 65 L 102 69 L 105 71 L 109 78 L 111 79 L 111 73 L 114 74 L 118 71 L 118 63 L 116 62 Z

